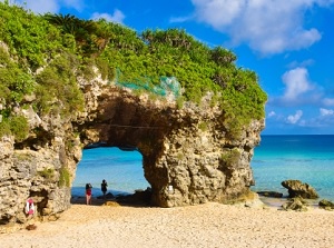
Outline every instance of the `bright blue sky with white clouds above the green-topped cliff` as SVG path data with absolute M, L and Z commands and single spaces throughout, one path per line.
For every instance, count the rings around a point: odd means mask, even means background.
M 263 135 L 334 135 L 334 0 L 11 0 L 37 13 L 105 18 L 138 32 L 185 29 L 256 71 Z

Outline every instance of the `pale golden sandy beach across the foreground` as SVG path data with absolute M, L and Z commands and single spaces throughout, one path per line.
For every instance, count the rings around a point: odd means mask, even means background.
M 334 247 L 334 211 L 220 204 L 178 208 L 72 204 L 57 221 L 0 235 L 2 248 Z

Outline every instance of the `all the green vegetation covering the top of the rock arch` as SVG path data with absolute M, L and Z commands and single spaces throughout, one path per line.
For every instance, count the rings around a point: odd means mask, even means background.
M 18 128 L 13 108 L 24 96 L 40 115 L 73 116 L 84 109 L 77 77 L 88 80 L 98 68 L 111 82 L 136 86 L 138 92 L 157 93 L 161 78 L 175 78 L 183 88 L 176 96 L 200 103 L 209 91 L 210 106 L 223 110 L 222 123 L 238 135 L 252 119 L 263 119 L 266 93 L 254 71 L 238 68 L 236 56 L 222 47 L 209 48 L 184 30 L 145 30 L 137 33 L 104 19 L 81 20 L 70 14 L 37 16 L 0 2 L 0 136 Z M 158 95 L 158 93 L 157 93 Z

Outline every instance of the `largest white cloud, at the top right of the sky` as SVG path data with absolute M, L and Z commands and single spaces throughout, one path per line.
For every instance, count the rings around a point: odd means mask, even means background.
M 191 0 L 197 20 L 230 36 L 233 44 L 248 46 L 264 54 L 307 48 L 321 39 L 315 28 L 303 27 L 314 6 L 333 0 Z

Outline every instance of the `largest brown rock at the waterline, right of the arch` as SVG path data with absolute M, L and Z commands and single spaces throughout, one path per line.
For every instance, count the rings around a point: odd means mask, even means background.
M 304 183 L 299 180 L 285 180 L 281 185 L 288 190 L 288 197 L 302 197 L 304 199 L 316 199 L 318 198 L 315 189 L 308 183 Z

